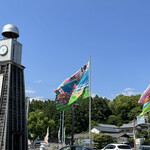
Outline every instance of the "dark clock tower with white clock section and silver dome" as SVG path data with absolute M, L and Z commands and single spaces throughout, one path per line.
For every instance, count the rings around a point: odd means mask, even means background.
M 19 30 L 7 24 L 0 40 L 0 150 L 27 150 L 24 66 Z

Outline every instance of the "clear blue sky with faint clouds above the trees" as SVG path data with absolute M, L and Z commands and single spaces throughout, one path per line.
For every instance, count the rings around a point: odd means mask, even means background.
M 1 1 L 0 29 L 19 28 L 26 96 L 54 100 L 53 90 L 90 56 L 92 95 L 141 94 L 150 84 L 149 6 L 149 0 Z

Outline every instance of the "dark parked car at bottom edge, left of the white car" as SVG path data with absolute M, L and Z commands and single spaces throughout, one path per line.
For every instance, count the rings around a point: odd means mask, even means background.
M 69 145 L 62 147 L 59 150 L 92 150 L 92 149 L 85 146 Z

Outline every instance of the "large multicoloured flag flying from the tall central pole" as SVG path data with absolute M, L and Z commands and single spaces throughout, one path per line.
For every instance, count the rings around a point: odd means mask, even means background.
M 66 79 L 54 92 L 56 107 L 62 111 L 66 111 L 75 101 L 89 97 L 89 62 Z

